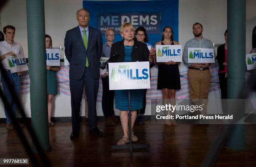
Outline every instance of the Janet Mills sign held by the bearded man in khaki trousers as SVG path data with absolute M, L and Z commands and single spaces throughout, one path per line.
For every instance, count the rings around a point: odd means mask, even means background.
M 187 48 L 188 63 L 215 63 L 214 49 Z

